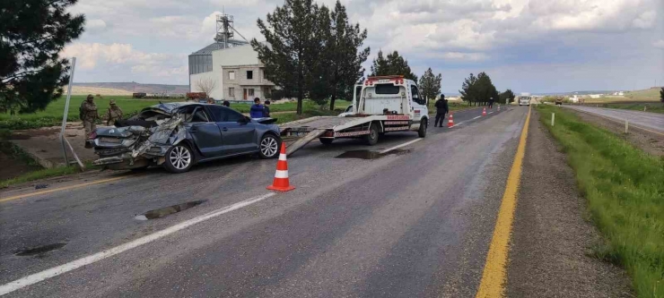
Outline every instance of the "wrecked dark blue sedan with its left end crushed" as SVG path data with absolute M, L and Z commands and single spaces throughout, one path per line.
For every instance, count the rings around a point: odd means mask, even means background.
M 166 103 L 144 108 L 115 127 L 100 127 L 88 140 L 109 169 L 163 166 L 187 172 L 197 163 L 247 154 L 279 155 L 275 119 L 251 119 L 225 106 Z

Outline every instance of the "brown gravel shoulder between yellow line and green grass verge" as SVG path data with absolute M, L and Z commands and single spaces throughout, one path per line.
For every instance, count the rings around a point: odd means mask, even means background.
M 584 220 L 572 168 L 537 112 L 530 121 L 511 236 L 508 297 L 633 297 L 625 271 L 590 257 L 601 242 Z

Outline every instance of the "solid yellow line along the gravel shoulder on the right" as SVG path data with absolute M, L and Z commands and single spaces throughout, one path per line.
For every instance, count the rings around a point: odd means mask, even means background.
M 523 124 L 519 147 L 511 165 L 507 185 L 502 195 L 501 209 L 498 211 L 494 227 L 494 236 L 491 239 L 489 252 L 486 254 L 485 270 L 482 281 L 477 289 L 476 298 L 502 297 L 506 281 L 507 253 L 509 251 L 511 223 L 514 220 L 514 209 L 517 205 L 517 192 L 521 178 L 521 165 L 526 154 L 526 139 L 528 138 L 528 125 L 530 123 L 530 108 Z

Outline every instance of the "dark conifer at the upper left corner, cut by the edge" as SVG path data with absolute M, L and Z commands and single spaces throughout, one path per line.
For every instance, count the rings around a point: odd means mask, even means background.
M 0 110 L 34 113 L 62 96 L 69 80 L 65 45 L 83 33 L 77 0 L 0 2 Z

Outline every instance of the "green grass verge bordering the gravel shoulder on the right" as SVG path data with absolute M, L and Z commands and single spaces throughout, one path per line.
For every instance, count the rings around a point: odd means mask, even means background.
M 606 240 L 595 248 L 596 256 L 624 267 L 639 297 L 664 297 L 664 158 L 554 106 L 537 111 L 563 145 Z M 549 123 L 553 111 L 554 127 Z

